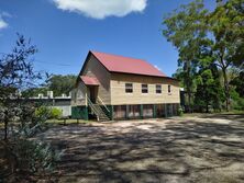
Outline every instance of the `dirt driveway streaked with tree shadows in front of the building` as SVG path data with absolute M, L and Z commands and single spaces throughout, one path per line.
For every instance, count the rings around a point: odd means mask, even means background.
M 58 126 L 59 182 L 244 182 L 244 116 Z

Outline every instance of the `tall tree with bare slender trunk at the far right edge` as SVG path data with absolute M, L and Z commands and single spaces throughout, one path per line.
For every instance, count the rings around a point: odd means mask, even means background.
M 218 1 L 217 9 L 206 16 L 210 36 L 210 49 L 214 64 L 221 69 L 224 82 L 225 106 L 230 110 L 230 80 L 228 70 L 243 64 L 244 16 L 243 1 Z

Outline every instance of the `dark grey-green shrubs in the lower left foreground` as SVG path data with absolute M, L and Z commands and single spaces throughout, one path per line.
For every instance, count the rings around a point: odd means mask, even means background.
M 7 180 L 3 182 L 20 182 L 23 175 L 37 174 L 41 176 L 51 173 L 54 169 L 60 153 L 53 150 L 48 144 L 32 138 L 42 130 L 44 121 L 40 119 L 47 118 L 46 115 L 49 115 L 51 111 L 52 108 L 45 106 L 35 108 L 30 104 L 21 107 L 0 108 L 0 121 L 18 122 L 14 128 L 10 128 L 8 140 L 2 142 L 5 169 L 8 172 L 14 173 L 11 178 L 5 176 Z M 9 179 L 13 179 L 13 181 L 9 181 Z

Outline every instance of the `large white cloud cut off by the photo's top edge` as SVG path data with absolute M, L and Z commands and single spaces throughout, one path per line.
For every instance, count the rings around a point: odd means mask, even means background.
M 60 10 L 77 12 L 93 19 L 125 16 L 143 12 L 147 0 L 53 0 Z

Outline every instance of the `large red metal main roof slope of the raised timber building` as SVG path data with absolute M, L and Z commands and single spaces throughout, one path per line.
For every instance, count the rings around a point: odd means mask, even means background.
M 93 56 L 111 72 L 167 77 L 153 65 L 142 59 L 129 58 L 111 54 L 91 52 Z

